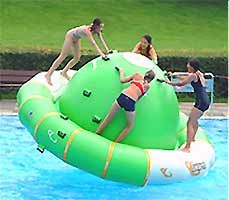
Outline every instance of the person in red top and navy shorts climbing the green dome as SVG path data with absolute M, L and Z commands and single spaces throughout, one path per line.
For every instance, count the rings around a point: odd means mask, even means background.
M 113 119 L 114 115 L 120 110 L 124 109 L 127 116 L 127 125 L 121 131 L 115 142 L 120 142 L 134 127 L 135 119 L 135 103 L 146 93 L 150 88 L 149 83 L 154 79 L 155 73 L 149 70 L 145 73 L 144 77 L 139 73 L 135 73 L 129 77 L 124 77 L 124 70 L 118 67 L 115 69 L 120 73 L 121 83 L 130 82 L 128 88 L 124 89 L 119 97 L 113 103 L 110 112 L 107 114 L 103 122 L 96 130 L 97 134 L 101 134 L 103 129 Z

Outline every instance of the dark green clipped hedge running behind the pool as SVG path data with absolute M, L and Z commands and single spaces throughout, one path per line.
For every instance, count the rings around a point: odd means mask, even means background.
M 55 53 L 14 53 L 5 52 L 0 53 L 0 69 L 15 69 L 15 70 L 48 70 L 54 59 L 58 56 Z M 95 58 L 95 55 L 82 55 L 81 61 L 74 67 L 79 69 L 86 62 Z M 61 64 L 59 69 L 71 59 L 67 57 Z M 211 72 L 217 75 L 227 76 L 227 57 L 199 57 L 202 70 L 204 72 Z M 188 57 L 175 57 L 175 56 L 161 56 L 159 58 L 159 66 L 167 71 L 186 71 Z M 215 78 L 215 96 L 227 97 L 227 79 Z

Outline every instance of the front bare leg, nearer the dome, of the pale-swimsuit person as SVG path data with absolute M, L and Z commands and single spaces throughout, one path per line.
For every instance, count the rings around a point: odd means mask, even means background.
M 67 65 L 64 67 L 63 71 L 61 72 L 61 75 L 63 75 L 68 80 L 70 80 L 71 77 L 68 76 L 67 71 L 71 69 L 80 60 L 80 43 L 81 43 L 80 39 L 73 43 L 74 57 L 67 63 Z

